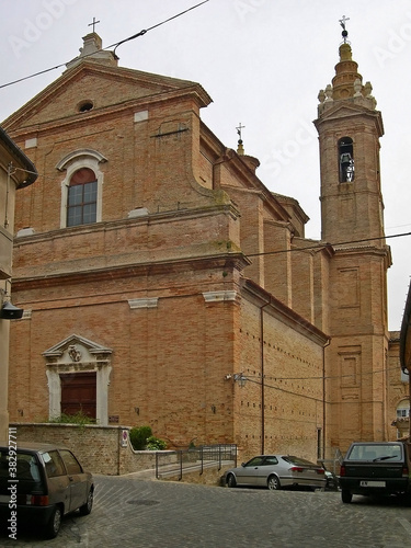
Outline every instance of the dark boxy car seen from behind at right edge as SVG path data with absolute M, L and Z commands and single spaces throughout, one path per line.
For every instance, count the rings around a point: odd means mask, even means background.
M 410 445 L 403 442 L 355 442 L 340 469 L 344 503 L 353 494 L 397 494 L 411 498 Z

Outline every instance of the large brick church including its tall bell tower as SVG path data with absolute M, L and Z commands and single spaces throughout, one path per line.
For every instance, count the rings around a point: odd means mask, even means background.
M 38 172 L 16 196 L 11 422 L 82 411 L 244 457 L 397 438 L 383 118 L 344 34 L 336 61 L 315 121 L 318 241 L 241 139 L 203 123 L 199 83 L 121 67 L 95 32 L 3 122 Z

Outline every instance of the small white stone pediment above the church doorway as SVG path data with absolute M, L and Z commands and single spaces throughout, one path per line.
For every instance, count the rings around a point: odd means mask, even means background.
M 101 359 L 103 356 L 107 358 L 112 352 L 112 349 L 102 346 L 96 342 L 89 341 L 83 336 L 72 334 L 43 352 L 43 356 L 49 364 L 58 363 L 59 365 L 69 365 L 79 362 L 95 362 L 96 359 Z

